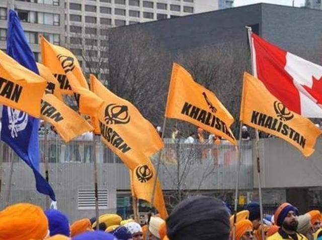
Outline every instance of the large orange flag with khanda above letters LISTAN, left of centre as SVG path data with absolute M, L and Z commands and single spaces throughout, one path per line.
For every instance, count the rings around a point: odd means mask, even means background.
M 131 102 L 108 90 L 94 75 L 91 75 L 91 87 L 105 101 L 92 114 L 98 113 L 101 139 L 127 167 L 133 170 L 142 164 L 142 157 L 150 157 L 164 147 L 153 125 Z

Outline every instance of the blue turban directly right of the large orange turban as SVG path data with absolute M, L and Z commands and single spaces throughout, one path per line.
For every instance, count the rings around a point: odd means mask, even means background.
M 56 234 L 70 236 L 69 221 L 65 214 L 56 209 L 46 210 L 45 214 L 48 218 L 50 236 Z

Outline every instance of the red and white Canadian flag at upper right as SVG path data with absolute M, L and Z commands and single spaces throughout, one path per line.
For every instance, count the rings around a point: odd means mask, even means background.
M 322 117 L 322 66 L 251 36 L 254 76 L 290 110 Z

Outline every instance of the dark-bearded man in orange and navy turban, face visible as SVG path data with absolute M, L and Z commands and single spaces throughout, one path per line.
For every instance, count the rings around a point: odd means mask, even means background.
M 268 237 L 267 240 L 307 240 L 304 235 L 297 232 L 297 215 L 297 208 L 291 204 L 285 202 L 280 205 L 274 213 L 274 222 L 280 227 L 280 229 L 278 232 Z

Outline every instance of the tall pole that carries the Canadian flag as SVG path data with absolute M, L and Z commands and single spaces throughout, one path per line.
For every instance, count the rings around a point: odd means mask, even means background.
M 252 63 L 252 74 L 254 76 L 255 73 L 255 66 L 254 66 L 254 53 L 253 53 L 253 40 L 252 40 L 252 28 L 249 26 L 246 26 L 247 33 L 248 33 L 248 40 L 250 44 L 250 50 L 251 50 L 251 63 Z M 255 76 L 257 77 L 257 76 Z M 261 226 L 262 226 L 262 240 L 265 239 L 264 234 L 264 224 L 263 224 L 263 218 L 264 218 L 264 211 L 263 211 L 263 200 L 262 200 L 262 184 L 261 184 L 261 161 L 260 161 L 260 149 L 259 149 L 259 133 L 258 130 L 255 130 L 256 133 L 256 163 L 257 163 L 257 179 L 258 179 L 258 194 L 260 198 L 260 216 L 261 216 Z

